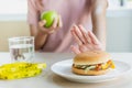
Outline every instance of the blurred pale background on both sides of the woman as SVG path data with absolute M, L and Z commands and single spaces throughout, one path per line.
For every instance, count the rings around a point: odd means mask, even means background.
M 0 0 L 0 51 L 8 50 L 11 36 L 30 35 L 26 0 Z M 107 51 L 132 52 L 132 0 L 109 0 Z

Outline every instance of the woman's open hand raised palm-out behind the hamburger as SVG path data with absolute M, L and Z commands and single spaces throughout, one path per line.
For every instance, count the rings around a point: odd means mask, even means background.
M 87 32 L 84 26 L 74 25 L 72 28 L 72 34 L 78 44 L 78 46 L 72 45 L 72 50 L 75 54 L 88 51 L 105 51 L 103 45 L 96 35 L 91 31 Z

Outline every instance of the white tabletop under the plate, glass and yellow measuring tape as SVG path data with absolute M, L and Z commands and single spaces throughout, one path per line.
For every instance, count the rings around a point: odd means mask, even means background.
M 132 66 L 132 53 L 110 53 L 112 59 L 125 62 Z M 114 80 L 98 84 L 79 84 L 66 80 L 52 73 L 51 66 L 59 61 L 73 58 L 69 53 L 35 53 L 33 58 L 36 63 L 46 63 L 47 68 L 36 77 L 0 80 L 0 88 L 132 88 L 132 76 L 121 77 Z M 10 63 L 9 53 L 0 53 L 0 64 Z

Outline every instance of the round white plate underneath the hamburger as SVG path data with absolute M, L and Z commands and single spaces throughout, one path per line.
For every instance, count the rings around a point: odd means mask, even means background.
M 116 64 L 116 69 L 111 73 L 100 76 L 80 76 L 72 73 L 73 59 L 62 61 L 55 63 L 51 69 L 54 74 L 64 77 L 72 81 L 78 82 L 101 82 L 111 80 L 121 76 L 127 76 L 131 72 L 131 66 L 124 62 L 113 61 Z

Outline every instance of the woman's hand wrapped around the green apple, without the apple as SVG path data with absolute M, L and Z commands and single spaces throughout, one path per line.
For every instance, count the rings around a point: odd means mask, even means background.
M 41 30 L 41 32 L 44 34 L 54 33 L 55 31 L 57 31 L 58 29 L 61 29 L 63 26 L 62 18 L 61 18 L 61 15 L 59 15 L 59 18 L 55 18 L 53 25 L 48 29 L 44 28 L 45 24 L 46 24 L 45 20 L 38 22 L 38 29 Z

